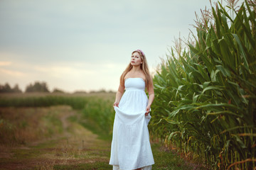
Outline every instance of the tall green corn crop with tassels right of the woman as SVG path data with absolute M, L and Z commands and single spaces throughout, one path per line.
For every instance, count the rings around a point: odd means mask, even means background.
M 149 130 L 210 168 L 255 169 L 256 1 L 229 2 L 202 11 L 197 35 L 169 50 Z

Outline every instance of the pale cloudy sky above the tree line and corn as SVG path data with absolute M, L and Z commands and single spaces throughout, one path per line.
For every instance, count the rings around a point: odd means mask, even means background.
M 215 2 L 215 1 L 212 1 Z M 117 91 L 132 51 L 154 72 L 208 0 L 1 0 L 0 84 Z

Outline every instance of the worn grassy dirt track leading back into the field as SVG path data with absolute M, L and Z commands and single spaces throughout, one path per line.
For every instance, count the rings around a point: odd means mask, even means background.
M 70 119 L 78 116 L 76 111 L 61 111 L 61 135 L 5 149 L 0 152 L 0 169 L 111 169 L 110 142 Z

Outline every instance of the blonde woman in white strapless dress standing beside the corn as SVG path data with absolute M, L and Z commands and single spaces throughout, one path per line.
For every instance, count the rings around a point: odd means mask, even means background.
M 154 87 L 146 56 L 142 50 L 135 50 L 120 77 L 114 101 L 116 114 L 110 156 L 114 170 L 149 170 L 154 164 L 147 128 L 153 100 Z

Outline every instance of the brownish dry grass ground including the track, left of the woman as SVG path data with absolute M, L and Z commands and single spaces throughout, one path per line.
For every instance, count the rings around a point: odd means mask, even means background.
M 0 169 L 109 166 L 110 141 L 99 140 L 97 135 L 70 120 L 70 116 L 78 113 L 69 106 L 1 108 L 0 116 L 16 127 L 9 134 L 1 133 L 6 139 L 1 140 L 4 149 L 0 150 Z M 28 125 L 22 128 L 21 121 Z M 25 131 L 28 135 L 22 136 Z M 24 142 L 16 142 L 21 140 Z

